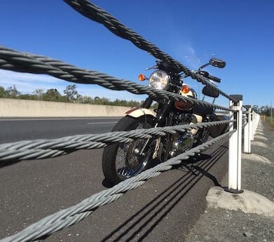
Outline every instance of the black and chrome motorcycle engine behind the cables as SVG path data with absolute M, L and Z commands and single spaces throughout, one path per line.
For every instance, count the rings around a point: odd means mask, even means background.
M 180 115 L 177 119 L 177 125 L 182 125 L 186 123 L 190 123 L 191 116 Z M 195 135 L 193 135 L 190 131 L 186 131 L 185 133 L 178 133 L 173 136 L 172 146 L 169 152 L 170 158 L 177 156 L 183 152 L 188 151 L 193 147 Z

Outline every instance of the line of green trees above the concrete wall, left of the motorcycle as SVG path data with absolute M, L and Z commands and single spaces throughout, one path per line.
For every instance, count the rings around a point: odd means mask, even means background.
M 135 100 L 120 100 L 114 101 L 109 98 L 95 97 L 91 98 L 88 95 L 79 95 L 76 90 L 76 85 L 69 85 L 63 90 L 64 95 L 55 89 L 51 88 L 46 91 L 43 89 L 36 89 L 33 93 L 23 94 L 17 90 L 15 86 L 4 88 L 0 86 L 0 98 L 16 98 L 24 100 L 41 100 L 41 101 L 53 101 L 53 102 L 74 102 L 81 104 L 92 104 L 92 105 L 113 105 L 113 106 L 125 106 L 125 107 L 138 107 L 141 102 Z

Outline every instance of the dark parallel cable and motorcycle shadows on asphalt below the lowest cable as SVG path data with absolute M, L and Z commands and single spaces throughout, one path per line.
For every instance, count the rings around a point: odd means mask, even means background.
M 101 242 L 143 241 L 202 177 L 208 177 L 215 186 L 221 186 L 217 178 L 210 174 L 208 170 L 219 161 L 227 149 L 228 142 L 225 142 L 211 155 L 201 154 L 195 156 L 184 162 L 182 166 L 177 167 L 185 174 L 156 196 L 153 201 L 139 209 L 132 217 L 129 217 L 123 224 L 120 224 L 114 231 L 105 236 Z

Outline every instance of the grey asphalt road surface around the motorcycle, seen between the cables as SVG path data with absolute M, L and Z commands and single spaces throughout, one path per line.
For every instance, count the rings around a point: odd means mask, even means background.
M 0 121 L 0 142 L 110 131 L 118 119 Z M 46 241 L 184 241 L 207 190 L 227 170 L 228 142 L 149 180 Z M 0 238 L 106 189 L 102 149 L 0 168 Z M 191 166 L 192 165 L 192 166 Z M 192 167 L 192 168 L 191 168 Z M 203 229 L 203 228 L 201 228 Z

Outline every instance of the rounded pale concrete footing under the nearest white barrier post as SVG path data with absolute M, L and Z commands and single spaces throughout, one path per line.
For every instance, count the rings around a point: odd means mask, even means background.
M 232 194 L 222 187 L 212 187 L 207 193 L 208 208 L 241 210 L 243 213 L 254 213 L 274 217 L 274 203 L 253 191 L 245 190 L 242 194 Z

